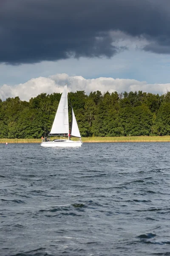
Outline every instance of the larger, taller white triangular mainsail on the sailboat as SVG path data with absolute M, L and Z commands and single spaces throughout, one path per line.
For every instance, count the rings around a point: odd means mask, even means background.
M 68 96 L 67 96 L 67 85 L 65 85 L 49 135 L 68 134 L 68 133 L 69 133 Z

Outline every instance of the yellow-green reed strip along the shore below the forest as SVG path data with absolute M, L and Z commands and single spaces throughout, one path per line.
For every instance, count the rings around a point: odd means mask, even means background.
M 82 142 L 170 142 L 170 136 L 83 137 Z M 41 139 L 0 139 L 0 143 L 41 143 Z

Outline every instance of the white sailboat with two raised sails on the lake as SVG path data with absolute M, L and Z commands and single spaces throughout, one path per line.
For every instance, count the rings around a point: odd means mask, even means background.
M 74 115 L 74 111 L 71 105 L 71 130 L 69 130 L 69 122 L 68 122 L 68 93 L 67 93 L 67 85 L 65 85 L 64 90 L 62 92 L 61 99 L 59 101 L 57 113 L 54 118 L 54 122 L 49 133 L 49 136 L 60 136 L 60 139 L 53 141 L 42 141 L 42 147 L 81 147 L 81 135 L 79 132 L 79 128 L 77 125 L 76 117 Z M 63 139 L 62 139 L 63 136 Z M 65 137 L 68 136 L 68 139 Z M 80 140 L 75 141 L 71 140 L 71 137 L 77 137 Z

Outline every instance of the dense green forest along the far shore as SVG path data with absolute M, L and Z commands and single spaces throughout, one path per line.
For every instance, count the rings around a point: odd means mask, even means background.
M 95 91 L 89 95 L 77 91 L 68 95 L 82 137 L 170 135 L 170 92 L 161 96 L 142 91 Z M 0 138 L 48 134 L 60 97 L 60 93 L 41 93 L 29 102 L 19 97 L 0 100 Z

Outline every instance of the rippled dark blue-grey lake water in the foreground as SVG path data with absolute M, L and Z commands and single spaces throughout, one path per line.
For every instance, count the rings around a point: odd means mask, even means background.
M 0 144 L 0 255 L 170 255 L 170 143 Z

